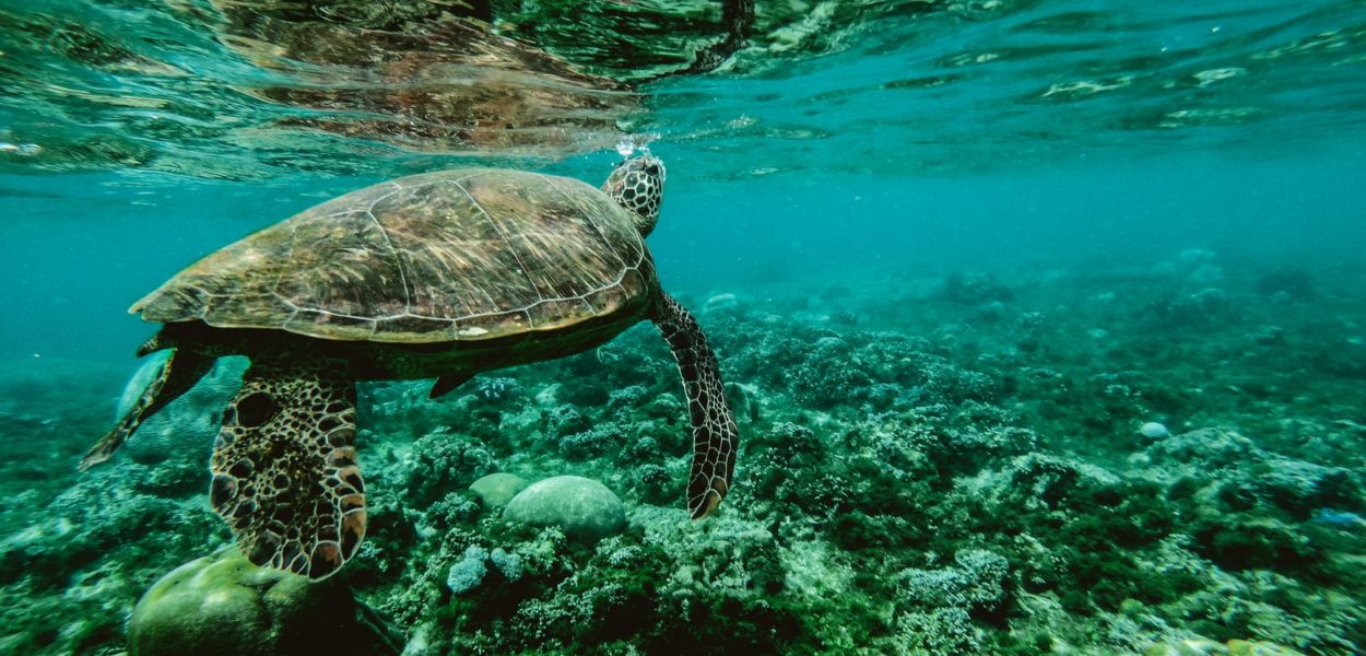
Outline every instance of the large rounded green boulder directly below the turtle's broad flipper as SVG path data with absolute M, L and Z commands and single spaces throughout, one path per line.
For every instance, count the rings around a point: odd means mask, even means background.
M 235 548 L 176 567 L 128 620 L 128 656 L 398 655 L 400 645 L 342 579 L 257 567 Z

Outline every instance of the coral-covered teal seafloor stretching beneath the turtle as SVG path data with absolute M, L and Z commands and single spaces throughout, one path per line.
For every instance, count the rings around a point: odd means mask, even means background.
M 366 385 L 370 533 L 329 579 L 365 605 L 307 603 L 382 637 L 331 653 L 1359 653 L 1363 279 L 1193 250 L 684 294 L 742 430 L 702 522 L 649 325 L 434 402 Z M 232 370 L 82 474 L 131 370 L 3 373 L 0 652 L 119 653 L 143 592 L 228 541 Z M 505 522 L 469 491 L 493 472 L 596 478 L 628 525 Z

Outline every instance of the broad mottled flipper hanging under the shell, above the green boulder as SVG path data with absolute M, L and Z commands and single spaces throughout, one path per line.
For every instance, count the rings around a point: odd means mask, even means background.
M 209 463 L 213 510 L 253 563 L 320 579 L 365 538 L 355 381 L 346 362 L 254 357 Z

